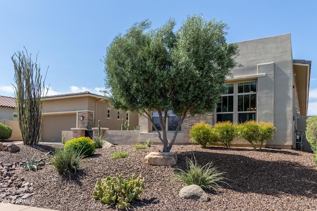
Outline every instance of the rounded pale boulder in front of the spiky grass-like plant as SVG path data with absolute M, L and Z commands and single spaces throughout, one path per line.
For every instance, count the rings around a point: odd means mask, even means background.
M 199 185 L 188 185 L 183 187 L 178 194 L 181 198 L 192 199 L 200 202 L 208 202 L 207 193 Z

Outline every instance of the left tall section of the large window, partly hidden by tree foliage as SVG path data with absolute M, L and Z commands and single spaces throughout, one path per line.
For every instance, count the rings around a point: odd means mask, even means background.
M 233 84 L 224 84 L 216 110 L 217 122 L 233 122 L 233 95 Z

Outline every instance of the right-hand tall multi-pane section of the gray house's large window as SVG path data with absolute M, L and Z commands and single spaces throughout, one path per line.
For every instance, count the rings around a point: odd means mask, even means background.
M 256 120 L 257 82 L 238 83 L 238 123 Z

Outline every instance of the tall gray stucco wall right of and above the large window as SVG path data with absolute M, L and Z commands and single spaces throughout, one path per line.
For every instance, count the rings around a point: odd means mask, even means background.
M 238 42 L 243 65 L 234 77 L 265 74 L 258 80 L 257 120 L 277 128 L 268 146 L 290 148 L 293 144 L 293 58 L 290 34 Z M 243 79 L 241 79 L 243 80 Z

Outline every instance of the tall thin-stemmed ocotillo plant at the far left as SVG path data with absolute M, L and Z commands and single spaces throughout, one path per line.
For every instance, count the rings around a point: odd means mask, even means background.
M 40 142 L 42 111 L 48 88 L 45 88 L 40 74 L 40 65 L 31 59 L 26 48 L 18 51 L 11 57 L 14 65 L 14 94 L 16 97 L 16 113 L 24 145 L 33 145 Z M 15 58 L 16 57 L 16 58 Z

